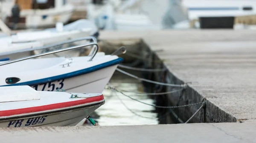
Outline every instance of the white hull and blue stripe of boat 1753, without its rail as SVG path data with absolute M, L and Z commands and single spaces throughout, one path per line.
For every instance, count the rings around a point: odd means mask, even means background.
M 6 64 L 0 66 L 3 73 L 0 86 L 29 85 L 38 91 L 60 88 L 76 93 L 102 93 L 122 58 L 102 55 L 88 62 L 89 59 L 89 56 L 72 59 L 58 57 Z

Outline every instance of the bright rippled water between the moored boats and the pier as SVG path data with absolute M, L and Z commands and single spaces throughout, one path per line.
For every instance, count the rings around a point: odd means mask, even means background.
M 131 73 L 131 71 L 128 72 Z M 110 83 L 113 87 L 117 87 L 121 90 L 143 92 L 143 85 L 140 81 L 125 76 L 117 71 L 114 73 Z M 102 107 L 96 110 L 96 113 L 99 115 L 97 122 L 101 126 L 158 124 L 157 113 L 154 112 L 154 107 L 134 101 L 111 89 L 105 89 L 103 94 L 106 102 Z M 136 95 L 135 93 L 127 92 L 125 92 L 125 94 L 145 103 L 154 104 L 154 101 L 147 95 Z M 148 118 L 134 115 L 134 113 L 126 109 L 118 97 L 133 112 Z

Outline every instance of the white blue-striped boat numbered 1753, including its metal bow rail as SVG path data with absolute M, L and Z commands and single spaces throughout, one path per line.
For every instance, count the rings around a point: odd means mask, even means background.
M 76 48 L 89 46 L 89 45 L 96 45 L 96 47 L 94 47 L 90 52 L 90 53 L 93 52 L 92 56 L 76 57 L 75 58 L 76 60 L 74 62 L 73 62 L 73 59 L 69 59 L 70 61 L 67 61 L 66 58 L 64 57 L 55 58 L 55 59 L 54 58 L 32 59 L 42 55 L 57 53 L 64 50 L 73 50 Z M 105 53 L 103 52 L 102 52 L 103 54 L 96 56 L 97 51 L 98 51 L 98 45 L 96 44 L 96 42 L 93 42 L 90 44 L 79 45 L 79 46 L 74 46 L 74 47 L 56 50 L 52 52 L 41 53 L 38 55 L 24 57 L 22 59 L 12 60 L 9 62 L 2 62 L 2 63 L 0 62 L 0 67 L 3 67 L 3 69 L 8 69 L 8 68 L 15 69 L 15 66 L 17 66 L 18 64 L 19 66 L 26 65 L 27 67 L 29 67 L 29 68 L 26 68 L 26 67 L 22 68 L 27 70 L 18 71 L 19 73 L 21 73 L 20 76 L 22 75 L 24 77 L 25 79 L 24 81 L 22 81 L 20 78 L 17 77 L 18 76 L 16 75 L 17 71 L 15 70 L 12 70 L 12 71 L 6 70 L 6 72 L 3 72 L 3 73 L 9 72 L 11 74 L 7 76 L 12 76 L 12 77 L 7 77 L 5 79 L 5 83 L 3 83 L 4 84 L 3 86 L 29 85 L 34 87 L 35 90 L 47 90 L 46 88 L 50 88 L 47 91 L 53 91 L 55 90 L 55 88 L 56 90 L 66 88 L 68 91 L 75 90 L 76 92 L 79 92 L 79 91 L 83 92 L 84 90 L 87 90 L 87 91 L 92 91 L 92 93 L 94 93 L 95 91 L 99 91 L 99 93 L 101 93 L 105 85 L 108 83 L 111 76 L 113 75 L 113 72 L 117 67 L 117 64 L 122 62 L 122 58 L 118 58 L 118 56 L 116 55 L 125 53 L 126 49 L 124 47 L 121 47 L 111 55 L 107 55 L 107 56 L 105 56 Z M 93 59 L 93 57 L 95 58 Z M 28 60 L 29 62 L 24 63 L 24 60 L 26 59 L 30 59 L 30 60 Z M 65 59 L 65 60 L 61 60 L 61 59 Z M 41 60 L 41 62 L 35 61 L 35 60 Z M 87 68 L 84 68 L 84 64 L 83 64 L 84 61 L 88 61 L 87 62 L 88 64 L 86 66 Z M 20 63 L 18 62 L 23 62 L 23 64 L 20 65 Z M 38 65 L 38 63 L 39 64 L 44 63 L 45 66 L 36 66 L 36 67 L 28 66 L 33 64 Z M 71 65 L 72 67 L 75 67 L 75 68 L 70 68 Z M 62 69 L 60 68 L 60 66 Z M 63 68 L 65 68 L 65 70 L 63 70 Z M 42 73 L 42 75 L 38 77 L 37 76 L 38 73 Z M 34 76 L 34 78 L 31 78 L 32 76 Z M 55 87 L 55 85 L 57 85 L 58 87 Z M 84 121 L 85 121 L 85 118 L 82 121 L 80 121 L 76 126 L 81 126 L 84 123 Z

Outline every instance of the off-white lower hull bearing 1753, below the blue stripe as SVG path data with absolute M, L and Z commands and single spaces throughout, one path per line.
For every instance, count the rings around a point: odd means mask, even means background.
M 30 86 L 38 91 L 55 91 L 60 88 L 75 93 L 102 93 L 116 67 L 117 64 L 80 76 Z

